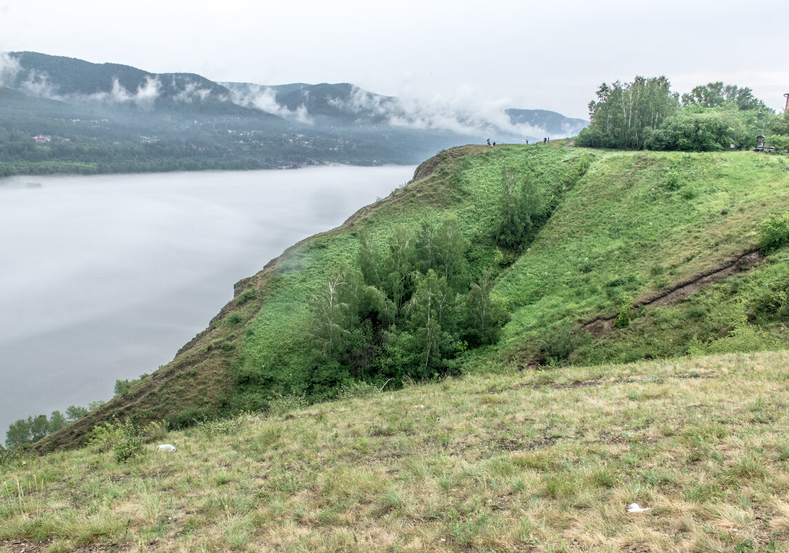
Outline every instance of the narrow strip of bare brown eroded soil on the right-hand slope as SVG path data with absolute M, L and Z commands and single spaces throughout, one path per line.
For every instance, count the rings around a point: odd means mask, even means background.
M 712 271 L 708 271 L 702 275 L 691 278 L 690 280 L 681 282 L 677 286 L 674 286 L 669 290 L 661 292 L 656 296 L 647 299 L 637 307 L 644 308 L 645 311 L 650 311 L 656 307 L 674 305 L 679 301 L 692 296 L 697 292 L 697 290 L 701 288 L 701 286 L 705 286 L 710 282 L 715 282 L 716 280 L 727 277 L 728 275 L 731 275 L 737 271 L 744 271 L 746 268 L 753 267 L 753 265 L 761 263 L 763 260 L 765 260 L 764 254 L 762 254 L 757 249 L 744 252 L 735 260 L 727 263 L 723 267 L 718 267 Z M 614 327 L 614 319 L 616 319 L 615 315 L 599 317 L 593 321 L 584 323 L 581 325 L 581 328 L 585 331 L 589 331 L 595 338 L 600 338 L 600 336 L 607 333 L 608 331 L 611 331 L 611 329 Z

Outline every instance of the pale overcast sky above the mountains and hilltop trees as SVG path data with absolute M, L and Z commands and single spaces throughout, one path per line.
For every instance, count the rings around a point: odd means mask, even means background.
M 0 51 L 257 84 L 350 82 L 454 106 L 587 118 L 602 82 L 723 80 L 782 110 L 776 2 L 0 0 Z

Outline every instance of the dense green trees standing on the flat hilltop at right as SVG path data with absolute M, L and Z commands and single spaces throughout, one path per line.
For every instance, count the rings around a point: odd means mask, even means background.
M 787 142 L 774 110 L 750 88 L 723 82 L 699 85 L 681 98 L 663 76 L 603 83 L 589 103 L 589 118 L 579 146 L 722 151 L 753 148 L 768 129 L 768 144 L 785 148 Z

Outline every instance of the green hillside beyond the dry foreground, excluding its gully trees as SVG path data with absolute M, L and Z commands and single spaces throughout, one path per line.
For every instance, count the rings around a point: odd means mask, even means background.
M 495 245 L 507 167 L 529 175 L 551 214 L 519 256 Z M 110 416 L 177 427 L 325 397 L 310 397 L 309 298 L 332 267 L 357 263 L 361 230 L 383 250 L 398 224 L 438 224 L 447 213 L 468 240 L 470 278 L 492 269 L 511 312 L 500 342 L 461 353 L 459 371 L 783 349 L 787 254 L 765 260 L 757 246 L 768 216 L 787 212 L 787 185 L 786 159 L 752 152 L 586 151 L 563 141 L 443 151 L 405 188 L 238 282 L 173 362 L 38 447 L 84 443 Z M 364 376 L 376 387 L 387 379 Z

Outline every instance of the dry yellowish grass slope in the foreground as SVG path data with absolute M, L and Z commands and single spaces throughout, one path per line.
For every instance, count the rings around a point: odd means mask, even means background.
M 112 443 L 21 459 L 2 466 L 0 549 L 787 551 L 787 367 L 469 375 L 280 402 L 125 464 Z

